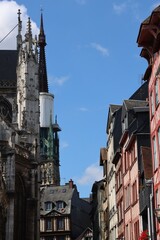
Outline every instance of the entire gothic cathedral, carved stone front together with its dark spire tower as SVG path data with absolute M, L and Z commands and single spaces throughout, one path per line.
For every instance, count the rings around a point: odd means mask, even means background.
M 40 183 L 59 185 L 59 137 L 48 92 L 43 16 L 17 50 L 0 50 L 0 240 L 39 240 Z M 38 54 L 39 48 L 39 54 Z

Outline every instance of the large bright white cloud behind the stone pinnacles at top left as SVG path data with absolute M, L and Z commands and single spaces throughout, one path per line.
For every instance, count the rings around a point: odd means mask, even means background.
M 17 25 L 18 9 L 21 10 L 21 20 L 22 20 L 22 35 L 26 31 L 26 25 L 28 21 L 27 9 L 24 5 L 19 5 L 16 1 L 0 1 L 0 41 Z M 39 33 L 39 29 L 35 22 L 31 20 L 32 33 L 33 36 Z M 7 36 L 1 43 L 0 49 L 16 49 L 16 35 L 17 27 L 11 34 Z

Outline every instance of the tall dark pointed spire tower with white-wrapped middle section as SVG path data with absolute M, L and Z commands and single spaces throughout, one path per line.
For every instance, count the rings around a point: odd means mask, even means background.
M 40 91 L 40 168 L 41 186 L 60 185 L 59 137 L 61 131 L 57 117 L 53 123 L 54 95 L 48 92 L 48 80 L 45 58 L 46 39 L 41 14 L 38 39 L 39 55 L 39 91 Z

